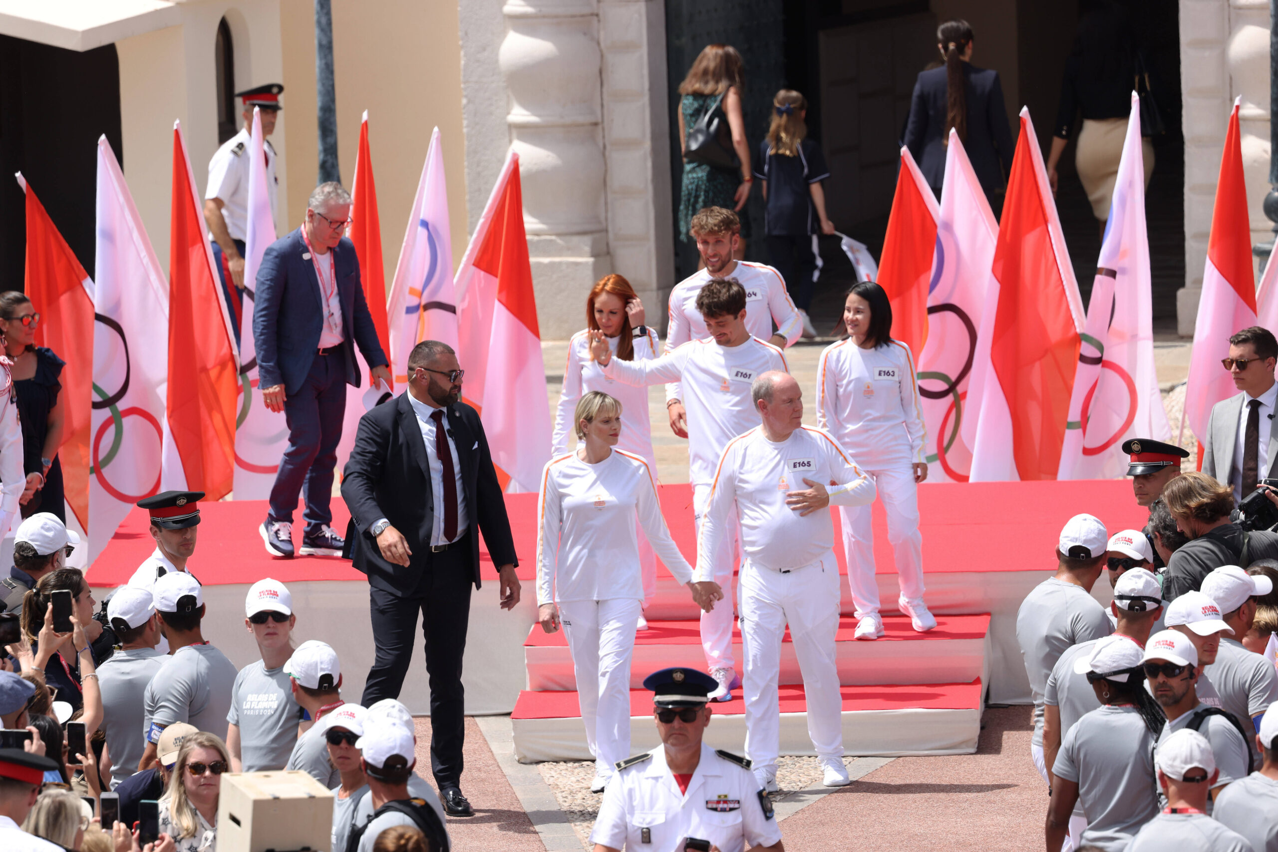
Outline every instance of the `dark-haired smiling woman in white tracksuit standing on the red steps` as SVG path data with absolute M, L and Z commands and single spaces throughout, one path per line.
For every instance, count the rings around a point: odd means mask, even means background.
M 901 584 L 898 607 L 918 631 L 937 620 L 923 602 L 923 536 L 919 534 L 919 483 L 928 478 L 923 457 L 923 411 L 914 358 L 892 340 L 892 307 L 873 281 L 855 285 L 843 305 L 849 337 L 820 354 L 817 414 L 878 487 L 887 513 L 887 536 Z M 874 534 L 869 506 L 841 506 L 847 581 L 856 604 L 856 639 L 883 635 L 874 580 Z

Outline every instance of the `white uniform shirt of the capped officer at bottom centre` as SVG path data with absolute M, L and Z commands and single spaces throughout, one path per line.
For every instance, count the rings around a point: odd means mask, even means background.
M 627 852 L 677 852 L 685 838 L 709 841 L 720 852 L 773 846 L 781 828 L 750 761 L 702 743 L 688 792 L 666 765 L 666 747 L 617 764 L 603 795 L 590 843 Z

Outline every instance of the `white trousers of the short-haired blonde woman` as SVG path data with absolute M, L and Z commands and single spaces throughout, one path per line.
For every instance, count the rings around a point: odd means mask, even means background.
M 585 742 L 596 772 L 611 777 L 630 756 L 630 658 L 640 604 L 634 598 L 557 604 L 573 654 Z

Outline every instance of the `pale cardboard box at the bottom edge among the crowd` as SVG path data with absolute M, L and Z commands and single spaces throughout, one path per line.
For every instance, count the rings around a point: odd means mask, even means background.
M 332 852 L 331 844 L 332 793 L 308 773 L 222 775 L 217 852 Z

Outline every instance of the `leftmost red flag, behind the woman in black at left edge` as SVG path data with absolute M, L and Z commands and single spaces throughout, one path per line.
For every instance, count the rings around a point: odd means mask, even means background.
M 89 424 L 93 386 L 93 281 L 27 183 L 27 280 L 24 290 L 42 322 L 36 345 L 66 361 L 59 381 L 65 422 L 58 453 L 63 491 L 81 529 L 88 529 Z

